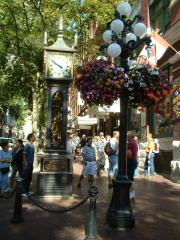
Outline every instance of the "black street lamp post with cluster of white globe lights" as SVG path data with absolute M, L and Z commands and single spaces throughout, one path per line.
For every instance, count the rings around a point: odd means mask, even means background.
M 146 34 L 146 26 L 142 23 L 142 17 L 137 15 L 133 20 L 128 19 L 131 6 L 122 2 L 117 6 L 115 19 L 108 23 L 108 30 L 103 34 L 106 44 L 101 47 L 107 49 L 109 56 L 119 57 L 121 67 L 128 74 L 130 58 L 134 56 L 134 50 L 146 43 L 150 47 L 151 39 Z M 128 83 L 127 83 L 128 84 Z M 107 212 L 107 223 L 112 228 L 131 229 L 135 226 L 132 213 L 129 190 L 131 182 L 127 178 L 127 123 L 128 123 L 128 99 L 129 90 L 122 90 L 120 101 L 120 150 L 118 156 L 118 173 L 113 184 L 113 194 Z

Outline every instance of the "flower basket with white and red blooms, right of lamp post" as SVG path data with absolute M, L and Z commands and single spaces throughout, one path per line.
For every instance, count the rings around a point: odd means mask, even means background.
M 163 71 L 146 64 L 137 64 L 128 72 L 129 105 L 149 107 L 172 93 L 172 84 Z

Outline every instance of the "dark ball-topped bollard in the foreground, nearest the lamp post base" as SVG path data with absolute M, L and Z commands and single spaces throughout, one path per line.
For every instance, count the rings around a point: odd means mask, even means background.
M 98 190 L 97 187 L 92 186 L 89 190 L 90 194 L 90 205 L 89 205 L 89 221 L 85 229 L 85 239 L 93 240 L 97 239 L 97 224 L 96 224 L 96 199 Z

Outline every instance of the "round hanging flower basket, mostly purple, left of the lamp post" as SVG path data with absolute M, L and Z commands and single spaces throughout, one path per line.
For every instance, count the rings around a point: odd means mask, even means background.
M 112 105 L 118 99 L 125 79 L 120 68 L 101 59 L 78 67 L 75 84 L 86 103 Z

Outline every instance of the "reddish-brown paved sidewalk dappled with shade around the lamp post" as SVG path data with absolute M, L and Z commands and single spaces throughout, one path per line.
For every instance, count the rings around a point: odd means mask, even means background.
M 85 179 L 77 188 L 82 165 L 74 163 L 73 196 L 70 199 L 45 199 L 43 206 L 62 209 L 76 205 L 88 194 L 89 184 Z M 106 212 L 112 190 L 107 187 L 107 176 L 96 177 L 98 187 L 97 231 L 99 240 L 179 240 L 180 239 L 180 185 L 156 175 L 152 179 L 135 179 L 136 202 L 133 206 L 135 228 L 119 232 L 106 224 Z M 25 222 L 11 224 L 13 199 L 0 199 L 1 240 L 84 240 L 84 224 L 88 219 L 89 200 L 71 212 L 53 214 L 36 207 L 29 200 L 23 200 Z

